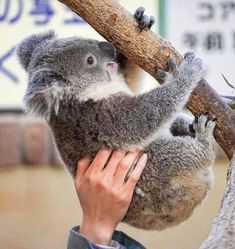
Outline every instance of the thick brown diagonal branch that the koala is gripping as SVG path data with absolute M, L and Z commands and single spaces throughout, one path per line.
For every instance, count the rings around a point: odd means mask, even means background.
M 112 42 L 131 61 L 156 79 L 155 68 L 166 68 L 167 58 L 181 55 L 152 31 L 138 30 L 132 14 L 116 0 L 59 0 L 86 20 L 104 38 Z M 187 107 L 192 113 L 208 111 L 218 118 L 215 138 L 231 159 L 235 152 L 235 114 L 219 95 L 202 80 L 193 92 Z

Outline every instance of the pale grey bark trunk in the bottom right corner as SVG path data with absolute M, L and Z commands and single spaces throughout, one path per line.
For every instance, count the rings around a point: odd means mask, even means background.
M 210 234 L 200 249 L 235 248 L 235 155 L 229 169 L 227 188 L 220 212 L 213 222 Z

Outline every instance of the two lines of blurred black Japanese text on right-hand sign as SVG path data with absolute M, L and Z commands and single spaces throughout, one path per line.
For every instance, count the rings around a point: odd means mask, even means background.
M 195 16 L 202 25 L 220 21 L 226 24 L 235 18 L 234 1 L 200 1 L 196 5 Z M 226 47 L 235 52 L 235 27 L 229 34 L 214 27 L 213 30 L 191 32 L 183 34 L 183 43 L 190 49 L 201 47 L 206 51 L 223 51 Z

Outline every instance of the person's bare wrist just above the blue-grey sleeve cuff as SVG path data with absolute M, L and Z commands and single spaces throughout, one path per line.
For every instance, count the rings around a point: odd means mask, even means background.
M 83 220 L 79 233 L 89 239 L 92 243 L 110 245 L 115 226 L 106 225 L 102 222 Z

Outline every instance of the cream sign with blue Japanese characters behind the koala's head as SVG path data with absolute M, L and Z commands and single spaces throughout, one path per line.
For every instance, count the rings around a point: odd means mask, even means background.
M 155 14 L 155 0 L 119 1 L 132 13 L 145 6 L 148 13 Z M 59 37 L 82 36 L 103 38 L 55 0 L 0 0 L 0 109 L 22 108 L 22 98 L 27 87 L 27 74 L 14 54 L 17 43 L 34 32 L 49 29 Z

